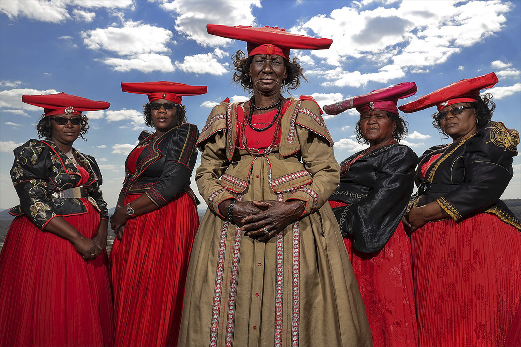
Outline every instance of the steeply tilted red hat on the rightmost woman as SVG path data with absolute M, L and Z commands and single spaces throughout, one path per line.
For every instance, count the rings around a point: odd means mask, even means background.
M 410 113 L 436 105 L 440 111 L 444 107 L 460 102 L 474 102 L 479 99 L 479 91 L 492 88 L 496 83 L 498 83 L 498 76 L 493 72 L 473 79 L 464 79 L 402 105 L 399 109 Z

